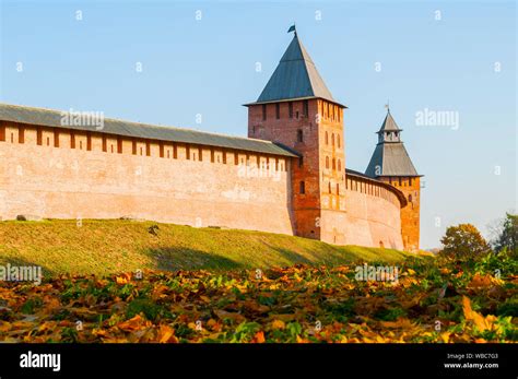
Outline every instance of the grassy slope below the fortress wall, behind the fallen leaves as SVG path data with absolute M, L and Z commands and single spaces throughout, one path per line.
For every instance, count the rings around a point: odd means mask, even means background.
M 0 222 L 0 264 L 37 264 L 47 275 L 110 274 L 138 269 L 264 269 L 296 263 L 337 265 L 397 262 L 409 256 L 398 250 L 337 247 L 271 233 L 154 222 Z

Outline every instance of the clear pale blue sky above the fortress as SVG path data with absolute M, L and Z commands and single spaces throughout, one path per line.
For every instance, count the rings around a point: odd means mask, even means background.
M 516 210 L 514 1 L 0 2 L 1 102 L 236 135 L 247 130 L 242 104 L 259 96 L 295 21 L 333 96 L 349 106 L 348 167 L 367 166 L 390 100 L 425 175 L 424 248 L 439 246 L 448 225 L 485 233 Z M 458 112 L 459 128 L 416 126 L 425 108 Z

